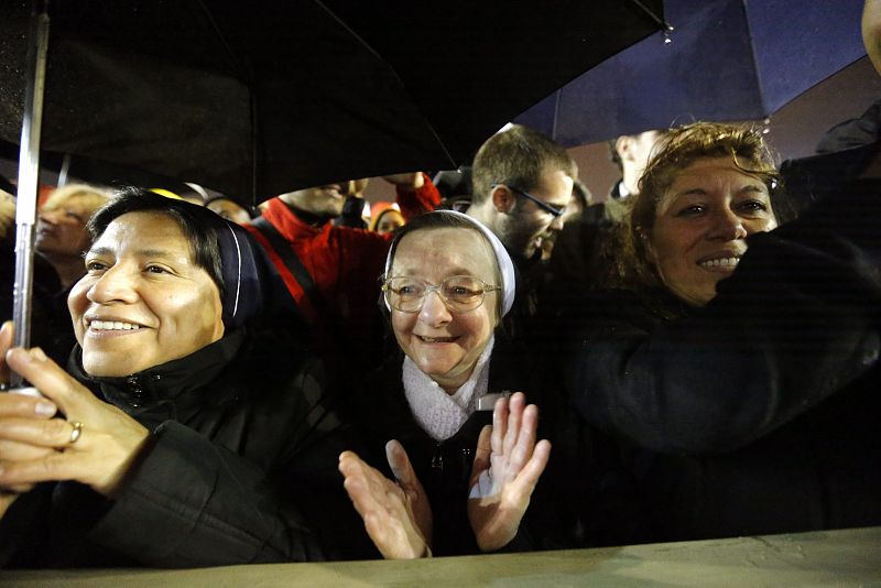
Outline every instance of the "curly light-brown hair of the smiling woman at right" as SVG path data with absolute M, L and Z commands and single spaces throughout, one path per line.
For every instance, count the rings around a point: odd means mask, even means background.
M 637 292 L 663 287 L 654 263 L 650 261 L 646 239 L 652 235 L 657 205 L 675 177 L 695 161 L 705 157 L 730 157 L 735 166 L 757 176 L 768 187 L 771 207 L 779 222 L 792 218 L 792 209 L 782 189 L 774 156 L 762 132 L 749 126 L 695 122 L 671 130 L 661 139 L 640 178 L 640 190 L 626 200 L 628 211 L 616 242 L 617 260 L 609 279 L 618 286 Z

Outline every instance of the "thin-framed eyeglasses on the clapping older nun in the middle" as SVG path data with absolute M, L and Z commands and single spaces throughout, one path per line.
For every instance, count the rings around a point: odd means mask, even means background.
M 437 292 L 450 313 L 468 313 L 483 304 L 487 292 L 496 290 L 501 290 L 501 286 L 487 284 L 470 275 L 452 275 L 439 285 L 406 275 L 389 277 L 382 283 L 389 305 L 402 313 L 418 312 L 431 292 Z

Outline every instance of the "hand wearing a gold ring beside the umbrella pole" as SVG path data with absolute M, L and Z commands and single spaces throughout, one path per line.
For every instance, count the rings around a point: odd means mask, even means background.
M 12 443 L 30 446 L 40 455 L 19 459 L 19 451 L 15 459 L 10 459 L 0 450 L 0 487 L 77 480 L 112 497 L 150 432 L 116 406 L 95 398 L 40 348 L 11 349 L 6 362 L 54 403 L 66 420 L 0 415 L 0 448 Z

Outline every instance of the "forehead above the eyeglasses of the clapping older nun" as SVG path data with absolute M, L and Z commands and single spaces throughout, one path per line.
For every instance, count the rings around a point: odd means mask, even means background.
M 405 235 L 398 243 L 392 273 L 468 274 L 491 280 L 497 272 L 496 258 L 477 229 L 431 228 Z

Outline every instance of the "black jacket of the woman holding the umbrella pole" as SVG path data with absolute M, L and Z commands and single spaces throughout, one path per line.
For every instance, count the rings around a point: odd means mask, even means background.
M 0 523 L 8 566 L 196 567 L 370 555 L 336 471 L 352 445 L 319 366 L 278 339 L 233 331 L 130 378 L 68 370 L 153 433 L 107 500 L 42 484 Z M 86 424 L 88 427 L 88 424 Z

